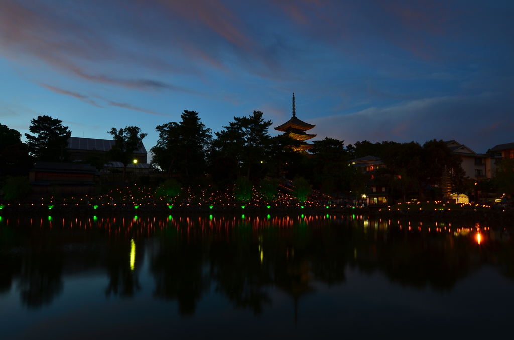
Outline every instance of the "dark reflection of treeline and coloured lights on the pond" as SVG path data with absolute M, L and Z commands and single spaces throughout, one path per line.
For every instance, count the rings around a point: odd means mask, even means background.
M 177 301 L 183 316 L 211 292 L 261 314 L 279 289 L 294 301 L 295 318 L 316 282 L 341 285 L 349 268 L 441 291 L 485 264 L 514 278 L 503 228 L 355 215 L 2 218 L 0 245 L 0 294 L 15 291 L 29 308 L 51 304 L 81 273 L 106 275 L 105 295 L 120 297 L 149 277 L 146 288 Z

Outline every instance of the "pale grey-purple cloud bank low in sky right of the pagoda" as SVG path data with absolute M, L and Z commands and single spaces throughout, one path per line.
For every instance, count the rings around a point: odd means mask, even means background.
M 346 144 L 362 140 L 424 143 L 434 138 L 454 139 L 475 152 L 485 152 L 512 140 L 512 111 L 514 103 L 504 96 L 484 93 L 476 97 L 413 100 L 313 122 L 327 137 L 345 140 Z

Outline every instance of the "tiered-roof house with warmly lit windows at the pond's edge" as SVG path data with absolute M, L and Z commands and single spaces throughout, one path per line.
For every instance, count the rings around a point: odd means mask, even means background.
M 374 178 L 374 173 L 384 166 L 382 160 L 379 157 L 366 156 L 351 160 L 348 163 L 362 171 L 364 174 L 370 175 L 370 181 L 366 187 L 366 193 L 362 198 L 365 198 L 366 202 L 368 202 L 370 206 L 387 205 L 391 200 L 389 197 L 389 191 L 387 187 L 377 185 Z

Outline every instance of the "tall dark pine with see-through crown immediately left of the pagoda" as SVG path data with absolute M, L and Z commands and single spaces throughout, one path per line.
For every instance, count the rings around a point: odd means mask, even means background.
M 234 159 L 248 179 L 252 169 L 263 171 L 262 162 L 271 156 L 272 140 L 268 135 L 271 120 L 265 121 L 262 116 L 263 112 L 253 111 L 249 117 L 234 117 L 229 126 L 224 126 L 225 130 L 215 133 L 213 155 Z

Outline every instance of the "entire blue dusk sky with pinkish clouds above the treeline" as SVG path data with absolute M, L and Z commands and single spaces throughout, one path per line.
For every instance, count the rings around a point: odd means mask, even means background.
M 264 112 L 345 144 L 514 142 L 514 2 L 1 0 L 0 123 L 111 139 L 183 110 Z M 270 129 L 270 135 L 278 132 Z

